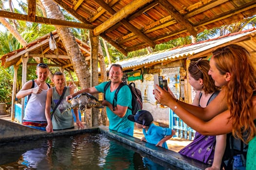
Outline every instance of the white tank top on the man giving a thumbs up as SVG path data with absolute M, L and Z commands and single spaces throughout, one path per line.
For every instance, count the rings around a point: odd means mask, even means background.
M 35 87 L 37 86 L 38 85 L 35 82 Z M 25 116 L 23 119 L 32 121 L 47 121 L 45 118 L 45 102 L 48 90 L 49 87 L 47 85 L 47 90 L 42 90 L 40 94 L 31 94 L 25 109 Z

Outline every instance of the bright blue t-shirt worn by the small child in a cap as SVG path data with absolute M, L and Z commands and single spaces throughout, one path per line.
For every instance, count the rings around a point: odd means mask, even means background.
M 160 127 L 152 123 L 149 125 L 147 133 L 146 130 L 143 129 L 143 134 L 147 142 L 156 145 L 165 136 L 172 135 L 172 129 Z M 162 147 L 168 149 L 167 143 L 164 142 Z

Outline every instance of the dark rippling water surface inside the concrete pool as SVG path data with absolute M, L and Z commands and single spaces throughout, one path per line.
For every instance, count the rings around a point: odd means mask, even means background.
M 3 170 L 178 170 L 104 134 L 44 137 L 1 144 Z

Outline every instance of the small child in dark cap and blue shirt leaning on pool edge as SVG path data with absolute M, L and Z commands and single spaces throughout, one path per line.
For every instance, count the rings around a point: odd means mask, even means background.
M 129 115 L 128 119 L 135 122 L 139 129 L 143 128 L 144 137 L 141 138 L 141 141 L 144 140 L 168 149 L 166 141 L 175 135 L 175 131 L 155 125 L 153 116 L 149 111 L 138 110 L 136 115 Z

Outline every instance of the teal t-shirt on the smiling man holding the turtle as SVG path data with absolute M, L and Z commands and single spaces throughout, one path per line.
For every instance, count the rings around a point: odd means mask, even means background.
M 104 87 L 108 82 L 103 82 L 95 88 L 99 91 L 104 93 Z M 106 101 L 113 103 L 113 99 L 115 97 L 115 92 L 110 91 L 110 85 L 106 89 L 105 97 Z M 130 91 L 130 88 L 127 85 L 124 85 L 120 88 L 118 92 L 118 101 L 115 101 L 115 106 L 121 105 L 121 106 L 128 106 L 129 108 L 132 108 L 132 93 Z M 124 117 L 120 118 L 115 113 L 113 113 L 109 107 L 106 107 L 107 109 L 107 116 L 109 119 L 109 129 L 125 133 L 127 135 L 133 136 L 133 130 L 134 130 L 134 122 L 127 119 L 129 115 L 132 115 L 132 111 L 130 109 L 127 109 Z

